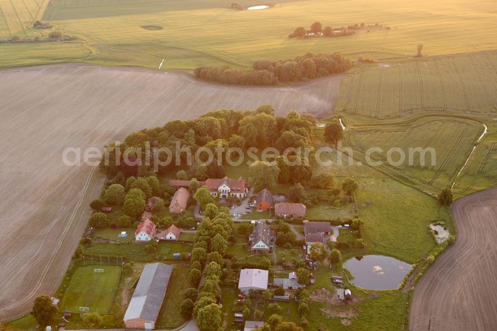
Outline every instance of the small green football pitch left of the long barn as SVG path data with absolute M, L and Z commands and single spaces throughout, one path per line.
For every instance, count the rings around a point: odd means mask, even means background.
M 101 268 L 103 272 L 94 272 Z M 90 312 L 107 314 L 121 275 L 121 267 L 110 265 L 88 265 L 79 267 L 73 274 L 62 298 L 60 309 L 79 313 L 79 307 L 88 307 Z

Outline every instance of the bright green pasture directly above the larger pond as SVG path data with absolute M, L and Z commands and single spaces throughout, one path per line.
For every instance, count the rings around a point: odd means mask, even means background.
M 435 247 L 427 226 L 439 217 L 449 219 L 435 198 L 393 179 L 360 180 L 369 183 L 356 193 L 369 249 L 413 263 Z

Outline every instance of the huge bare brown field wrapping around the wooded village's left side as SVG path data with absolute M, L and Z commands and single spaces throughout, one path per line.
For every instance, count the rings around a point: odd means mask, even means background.
M 330 114 L 342 76 L 290 87 L 225 86 L 183 73 L 89 65 L 0 72 L 0 321 L 52 295 L 86 225 L 102 176 L 69 167 L 65 148 L 101 149 L 142 128 L 220 108 L 272 104 Z

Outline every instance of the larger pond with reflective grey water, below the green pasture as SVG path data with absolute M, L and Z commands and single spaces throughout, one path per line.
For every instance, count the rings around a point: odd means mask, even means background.
M 350 282 L 368 290 L 395 290 L 411 269 L 411 264 L 390 256 L 365 255 L 351 258 L 344 267 L 354 279 Z

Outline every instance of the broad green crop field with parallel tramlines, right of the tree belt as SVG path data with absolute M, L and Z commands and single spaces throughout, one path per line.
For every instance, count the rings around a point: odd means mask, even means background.
M 335 111 L 374 118 L 497 112 L 497 53 L 438 56 L 355 66 Z

